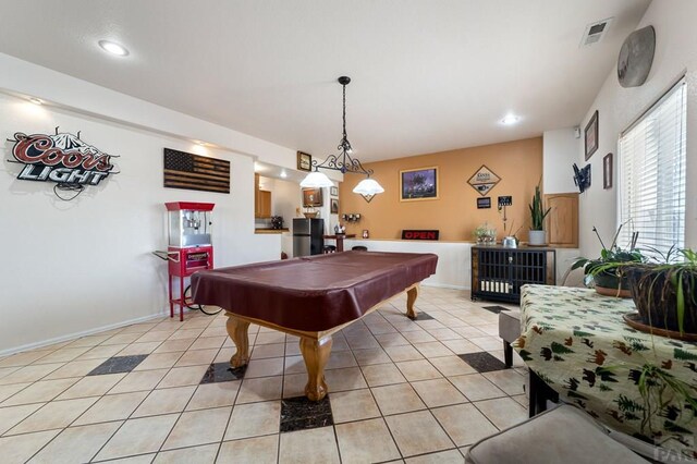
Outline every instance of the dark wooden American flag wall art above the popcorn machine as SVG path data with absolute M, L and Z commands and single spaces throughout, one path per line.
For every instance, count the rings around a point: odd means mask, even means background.
M 230 161 L 164 148 L 164 186 L 230 193 Z

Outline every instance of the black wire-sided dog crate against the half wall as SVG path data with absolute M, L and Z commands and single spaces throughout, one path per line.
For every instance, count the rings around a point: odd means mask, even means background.
M 526 283 L 557 283 L 553 248 L 472 247 L 472 301 L 518 303 Z

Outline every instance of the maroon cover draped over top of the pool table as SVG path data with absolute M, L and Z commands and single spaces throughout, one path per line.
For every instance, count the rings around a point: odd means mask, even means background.
M 288 329 L 325 331 L 436 272 L 438 256 L 344 252 L 192 276 L 194 302 Z

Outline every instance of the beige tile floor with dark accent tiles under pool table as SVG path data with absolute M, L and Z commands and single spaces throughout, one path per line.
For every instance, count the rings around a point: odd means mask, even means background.
M 334 335 L 321 426 L 283 416 L 306 381 L 295 337 L 252 326 L 244 377 L 201 383 L 235 351 L 222 314 L 0 358 L 0 462 L 464 462 L 472 443 L 527 417 L 524 364 L 499 362 L 498 315 L 484 309 L 494 303 L 424 286 L 412 321 L 405 302 Z M 113 356 L 130 357 L 101 366 Z M 281 432 L 289 419 L 283 429 L 309 428 Z

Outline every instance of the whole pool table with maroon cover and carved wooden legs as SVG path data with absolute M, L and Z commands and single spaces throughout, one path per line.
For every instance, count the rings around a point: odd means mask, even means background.
M 233 367 L 249 362 L 249 323 L 299 337 L 307 368 L 305 394 L 327 395 L 325 365 L 332 333 L 406 292 L 406 316 L 415 319 L 419 283 L 436 272 L 438 256 L 416 253 L 344 252 L 204 270 L 192 277 L 194 302 L 225 309 L 237 351 Z

